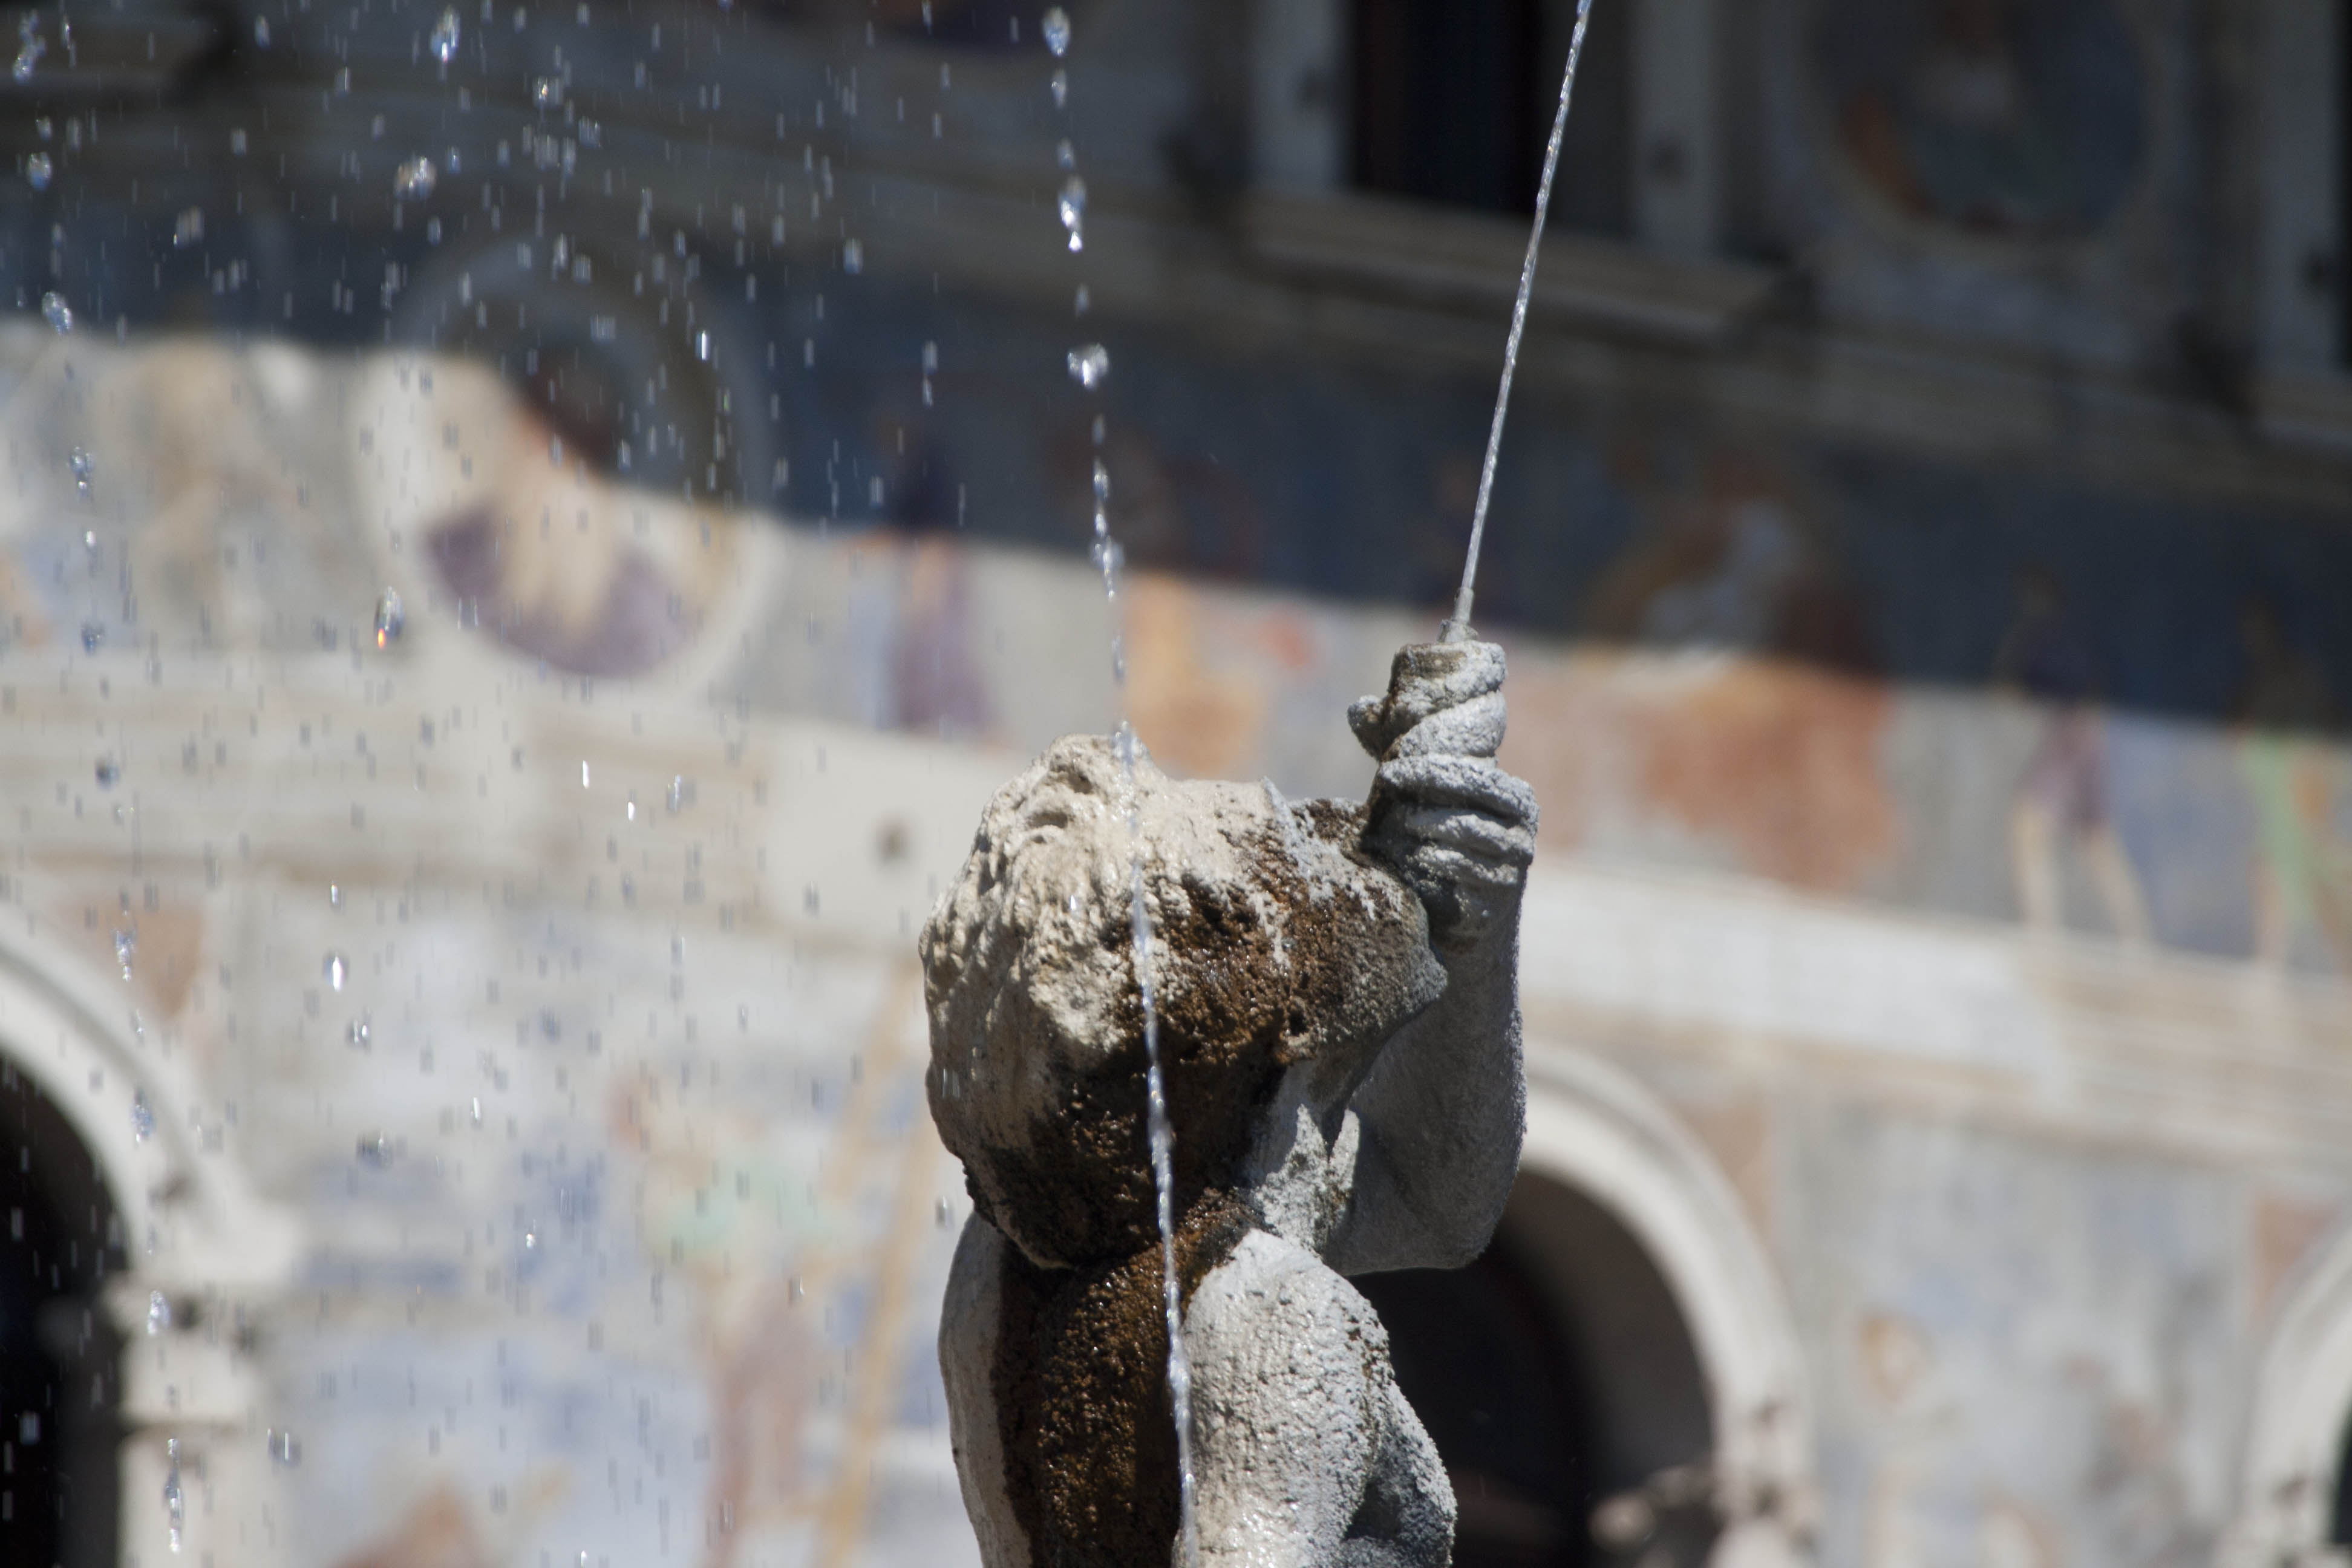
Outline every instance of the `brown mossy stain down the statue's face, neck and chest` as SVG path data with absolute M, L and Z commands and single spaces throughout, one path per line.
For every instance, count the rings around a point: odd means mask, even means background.
M 1310 886 L 1275 823 L 1244 844 L 1251 889 L 1185 879 L 1183 900 L 1157 900 L 1181 907 L 1155 931 L 1155 973 L 1185 1300 L 1249 1229 L 1235 1194 L 1284 1067 L 1329 1063 L 1331 1081 L 1352 1084 L 1404 1023 L 1359 978 L 1388 947 L 1421 947 L 1418 910 L 1362 856 L 1362 825 L 1359 809 L 1322 802 L 1289 823 L 1338 846 L 1362 872 L 1350 884 Z M 1134 940 L 1117 914 L 1098 933 L 1105 952 Z M 1141 997 L 1117 1027 L 1103 1067 L 1063 1086 L 1025 1150 L 967 1166 L 985 1218 L 1002 1206 L 1077 1260 L 1047 1269 L 1011 1246 L 1000 1286 L 990 1378 L 1004 1486 L 1037 1568 L 1164 1563 L 1178 1528 Z

